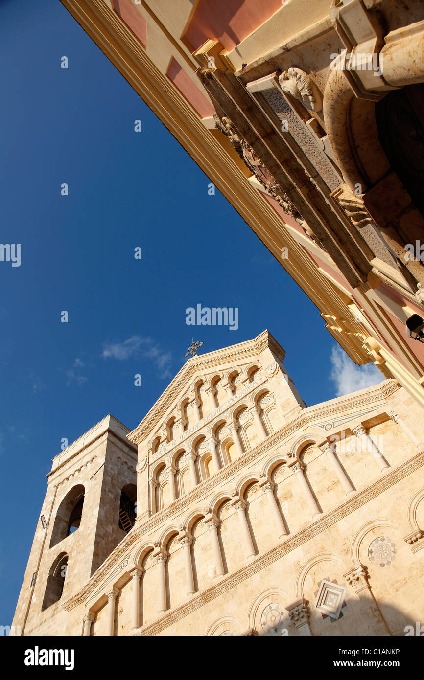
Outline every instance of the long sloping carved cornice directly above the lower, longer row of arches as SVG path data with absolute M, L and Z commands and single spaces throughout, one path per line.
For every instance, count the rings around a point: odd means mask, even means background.
M 289 440 L 289 438 L 291 437 L 291 435 L 293 435 L 294 432 L 297 432 L 304 426 L 308 425 L 313 426 L 313 422 L 315 420 L 320 420 L 324 414 L 329 415 L 333 413 L 340 413 L 348 408 L 352 408 L 352 405 L 369 404 L 372 403 L 373 401 L 382 401 L 388 396 L 391 396 L 393 392 L 399 389 L 398 386 L 392 381 L 389 383 L 389 385 L 384 383 L 383 386 L 384 386 L 383 388 L 382 387 L 375 388 L 371 392 L 371 394 L 370 392 L 367 391 L 366 394 L 368 396 L 365 396 L 363 399 L 358 399 L 358 396 L 360 395 L 355 394 L 356 400 L 354 396 L 350 401 L 344 401 L 341 405 L 340 403 L 338 404 L 336 403 L 336 405 L 334 405 L 332 409 L 328 407 L 327 409 L 324 409 L 323 412 L 316 411 L 313 414 L 314 415 L 313 419 L 310 417 L 310 415 L 308 417 L 308 413 L 305 413 L 305 411 L 308 411 L 308 409 L 304 409 L 304 411 L 302 411 L 299 414 L 299 417 L 296 418 L 293 422 L 291 422 L 287 426 L 284 426 L 281 430 L 278 430 L 278 432 L 274 433 L 274 435 L 272 435 L 271 437 L 267 437 L 267 439 L 265 439 L 265 441 L 261 443 L 261 445 L 258 445 L 255 449 L 251 449 L 249 452 L 246 452 L 241 458 L 238 458 L 237 460 L 235 460 L 235 462 L 227 465 L 220 471 L 220 473 L 214 475 L 214 477 L 212 477 L 211 480 L 200 483 L 189 494 L 186 494 L 180 500 L 177 500 L 175 503 L 172 503 L 171 506 L 165 508 L 159 513 L 155 513 L 152 517 L 146 520 L 143 526 L 140 526 L 139 528 L 136 522 L 135 526 L 133 527 L 133 529 L 131 529 L 127 537 L 123 539 L 123 541 L 114 549 L 114 551 L 112 551 L 109 558 L 105 560 L 105 562 L 103 562 L 103 564 L 99 568 L 98 573 L 97 572 L 94 573 L 93 577 L 91 577 L 90 581 L 86 583 L 86 585 L 84 586 L 84 588 L 82 588 L 80 593 L 76 594 L 74 597 L 67 600 L 67 602 L 64 603 L 63 607 L 67 611 L 69 611 L 70 609 L 73 609 L 74 607 L 80 605 L 81 602 L 84 602 L 86 598 L 88 598 L 88 596 L 90 596 L 93 593 L 93 591 L 97 588 L 97 585 L 99 585 L 99 583 L 103 581 L 108 572 L 112 570 L 116 562 L 118 562 L 125 554 L 127 554 L 129 548 L 131 547 L 131 545 L 133 545 L 133 543 L 135 543 L 135 541 L 138 541 L 145 534 L 148 534 L 155 527 L 165 522 L 165 520 L 169 519 L 169 517 L 172 517 L 173 515 L 178 516 L 182 511 L 184 511 L 186 507 L 191 505 L 193 501 L 197 500 L 198 498 L 201 498 L 202 496 L 205 496 L 205 494 L 214 490 L 214 488 L 216 488 L 217 486 L 220 486 L 223 482 L 225 482 L 226 479 L 231 477 L 234 473 L 238 472 L 239 470 L 244 469 L 246 465 L 252 462 L 252 460 L 255 460 L 255 458 L 258 458 L 259 456 L 266 453 L 276 445 L 283 443 L 286 439 Z M 415 458 L 413 460 L 415 460 Z M 396 470 L 397 469 L 395 469 L 393 473 L 389 473 L 389 475 L 387 475 L 385 479 L 387 478 L 391 479 L 392 475 L 396 472 Z M 363 493 L 364 492 L 361 492 L 361 494 Z M 359 494 L 359 496 L 361 494 Z M 353 500 L 355 500 L 355 498 L 357 498 L 357 496 L 354 496 Z M 321 521 L 323 520 L 319 520 L 319 522 Z M 317 524 L 317 522 L 315 524 Z M 315 524 L 313 526 L 315 526 Z

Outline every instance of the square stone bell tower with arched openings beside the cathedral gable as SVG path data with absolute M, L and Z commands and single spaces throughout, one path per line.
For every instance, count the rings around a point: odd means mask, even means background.
M 78 594 L 133 526 L 137 454 L 128 432 L 107 415 L 53 458 L 14 616 L 22 635 L 35 628 L 63 634 L 61 603 Z

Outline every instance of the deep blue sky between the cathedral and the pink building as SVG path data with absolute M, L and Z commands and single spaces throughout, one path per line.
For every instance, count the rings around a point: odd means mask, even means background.
M 208 177 L 59 0 L 0 0 L 0 53 L 0 241 L 21 244 L 20 267 L 0 262 L 6 625 L 61 440 L 108 413 L 134 428 L 192 334 L 210 352 L 268 328 L 308 405 L 383 378 L 336 349 L 318 309 L 221 194 L 208 195 Z M 197 303 L 238 307 L 238 330 L 187 326 Z

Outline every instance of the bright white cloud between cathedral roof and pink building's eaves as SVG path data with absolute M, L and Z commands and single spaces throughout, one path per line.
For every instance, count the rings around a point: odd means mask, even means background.
M 385 379 L 374 364 L 357 366 L 342 350 L 342 347 L 333 347 L 330 360 L 330 378 L 336 385 L 336 396 L 363 390 Z

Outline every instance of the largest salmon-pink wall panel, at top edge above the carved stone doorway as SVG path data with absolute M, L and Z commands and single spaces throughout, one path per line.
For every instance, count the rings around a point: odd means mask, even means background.
M 281 0 L 199 0 L 182 37 L 193 52 L 209 39 L 233 50 L 281 7 Z

